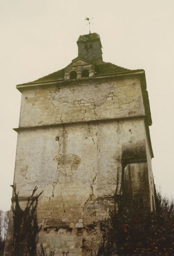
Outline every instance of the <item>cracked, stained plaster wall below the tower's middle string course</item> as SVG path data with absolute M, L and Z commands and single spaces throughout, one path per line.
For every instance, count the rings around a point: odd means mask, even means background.
M 95 255 L 102 233 L 88 225 L 108 217 L 122 150 L 142 141 L 146 150 L 143 118 L 19 131 L 14 182 L 23 197 L 43 189 L 38 246 L 58 256 Z

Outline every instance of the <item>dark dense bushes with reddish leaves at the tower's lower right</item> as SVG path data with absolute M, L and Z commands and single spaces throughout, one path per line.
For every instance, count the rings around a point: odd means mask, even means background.
M 120 188 L 118 178 L 114 207 L 109 218 L 100 222 L 103 238 L 97 256 L 173 256 L 174 201 L 155 188 L 153 213 L 130 198 L 126 172 L 122 172 Z

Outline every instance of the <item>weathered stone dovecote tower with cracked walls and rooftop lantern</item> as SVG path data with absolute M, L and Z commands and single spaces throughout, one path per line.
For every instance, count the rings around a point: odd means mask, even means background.
M 38 245 L 56 256 L 95 255 L 117 173 L 132 198 L 154 210 L 151 114 L 143 69 L 102 59 L 100 36 L 81 35 L 78 57 L 53 74 L 19 84 L 22 93 L 14 183 L 20 203 L 37 185 Z M 12 221 L 5 255 L 12 255 Z M 91 254 L 92 253 L 92 254 Z

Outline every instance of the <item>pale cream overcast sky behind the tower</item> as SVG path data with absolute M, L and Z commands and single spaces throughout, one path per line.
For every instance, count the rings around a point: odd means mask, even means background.
M 100 35 L 103 60 L 144 69 L 150 100 L 152 169 L 162 193 L 174 197 L 174 1 L 0 0 L 0 209 L 11 205 L 20 92 L 77 57 L 76 41 Z

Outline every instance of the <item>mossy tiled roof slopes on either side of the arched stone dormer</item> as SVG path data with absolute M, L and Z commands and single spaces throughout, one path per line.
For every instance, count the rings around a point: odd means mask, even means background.
M 97 67 L 98 67 L 97 75 L 115 74 L 115 73 L 133 71 L 131 69 L 119 67 L 110 62 L 103 62 L 102 64 L 97 65 Z M 53 81 L 53 80 L 58 80 L 58 79 L 64 79 L 64 69 L 58 70 L 58 71 L 51 73 L 47 76 L 43 76 L 42 78 L 39 78 L 30 83 L 48 82 L 48 81 Z

